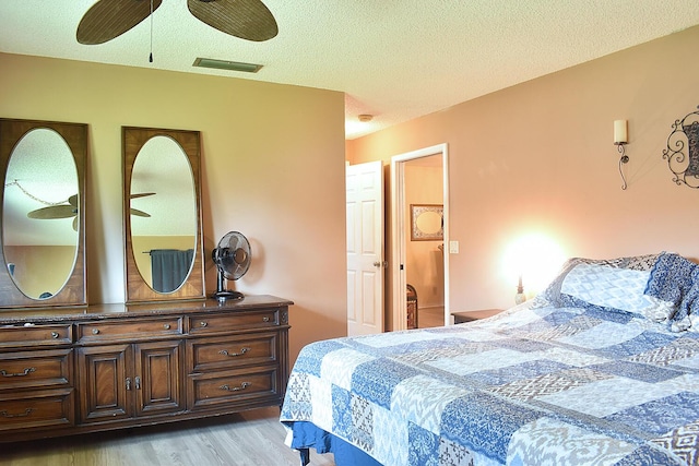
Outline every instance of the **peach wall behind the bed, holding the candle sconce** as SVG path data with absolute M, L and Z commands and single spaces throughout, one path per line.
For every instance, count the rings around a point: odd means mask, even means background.
M 454 311 L 513 304 L 517 274 L 503 262 L 523 236 L 566 256 L 697 259 L 699 190 L 672 181 L 662 152 L 671 124 L 699 105 L 698 45 L 699 26 L 348 141 L 347 157 L 388 164 L 448 143 Z M 626 191 L 616 119 L 629 121 Z

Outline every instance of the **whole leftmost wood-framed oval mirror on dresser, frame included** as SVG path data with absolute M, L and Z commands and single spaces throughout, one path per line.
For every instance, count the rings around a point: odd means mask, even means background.
M 0 307 L 82 306 L 87 127 L 0 119 Z

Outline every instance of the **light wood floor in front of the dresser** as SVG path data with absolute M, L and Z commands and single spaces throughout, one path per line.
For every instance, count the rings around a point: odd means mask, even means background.
M 31 442 L 0 443 L 2 466 L 286 466 L 298 452 L 284 444 L 279 408 L 220 418 Z M 311 450 L 311 465 L 334 465 Z

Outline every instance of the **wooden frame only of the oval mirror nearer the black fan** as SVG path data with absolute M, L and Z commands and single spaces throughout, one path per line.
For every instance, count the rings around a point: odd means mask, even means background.
M 189 159 L 194 183 L 194 203 L 197 219 L 197 240 L 192 268 L 185 283 L 173 292 L 158 292 L 143 279 L 135 262 L 131 239 L 131 175 L 133 164 L 141 147 L 154 136 L 168 136 L 175 140 Z M 126 250 L 126 300 L 127 303 L 194 300 L 205 299 L 204 260 L 203 260 L 203 227 L 201 213 L 201 146 L 199 131 L 166 130 L 155 128 L 121 127 L 123 151 L 123 225 Z

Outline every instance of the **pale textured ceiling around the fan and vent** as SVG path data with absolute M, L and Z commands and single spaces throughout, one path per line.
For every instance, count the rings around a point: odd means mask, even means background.
M 251 43 L 164 0 L 150 63 L 149 20 L 103 45 L 76 41 L 93 3 L 1 0 L 0 51 L 344 92 L 347 139 L 699 24 L 697 0 L 264 0 L 280 33 Z M 192 68 L 197 57 L 264 68 Z

